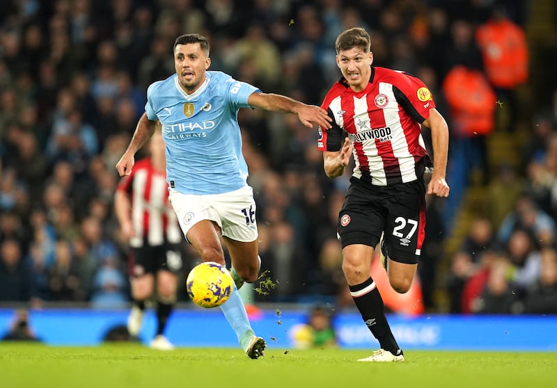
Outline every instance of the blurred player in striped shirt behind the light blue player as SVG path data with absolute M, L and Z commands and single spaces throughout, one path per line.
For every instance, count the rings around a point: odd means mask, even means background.
M 150 346 L 171 350 L 173 346 L 164 330 L 176 301 L 176 273 L 182 268 L 182 234 L 168 202 L 160 131 L 150 139 L 149 152 L 150 156 L 138 161 L 132 173 L 120 180 L 114 199 L 116 218 L 130 246 L 128 270 L 134 305 L 127 330 L 134 336 L 139 334 L 146 302 L 156 284 L 157 333 Z

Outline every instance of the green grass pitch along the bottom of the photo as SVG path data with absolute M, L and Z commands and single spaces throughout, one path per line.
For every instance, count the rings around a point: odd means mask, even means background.
M 557 353 L 407 350 L 402 363 L 356 362 L 371 350 L 240 349 L 139 344 L 89 348 L 0 343 L 6 388 L 554 387 Z

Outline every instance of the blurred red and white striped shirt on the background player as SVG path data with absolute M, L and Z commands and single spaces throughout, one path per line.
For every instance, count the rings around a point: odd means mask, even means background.
M 141 247 L 144 241 L 162 245 L 165 237 L 170 243 L 182 240 L 178 218 L 168 202 L 166 174 L 155 170 L 150 158 L 137 161 L 132 173 L 120 179 L 116 189 L 130 195 L 132 202 L 135 236 L 130 239 L 130 246 Z

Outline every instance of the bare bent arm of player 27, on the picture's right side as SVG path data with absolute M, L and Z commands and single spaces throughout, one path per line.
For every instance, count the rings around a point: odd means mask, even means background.
M 448 125 L 437 109 L 430 109 L 430 117 L 423 125 L 431 129 L 433 147 L 433 174 L 427 184 L 427 194 L 448 197 L 450 188 L 445 180 L 448 158 Z

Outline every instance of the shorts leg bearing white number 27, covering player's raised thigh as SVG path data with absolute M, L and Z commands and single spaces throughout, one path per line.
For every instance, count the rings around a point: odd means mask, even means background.
M 388 215 L 384 241 L 388 246 L 389 259 L 403 264 L 417 264 L 425 236 L 423 180 L 397 185 L 385 206 Z

